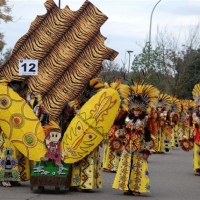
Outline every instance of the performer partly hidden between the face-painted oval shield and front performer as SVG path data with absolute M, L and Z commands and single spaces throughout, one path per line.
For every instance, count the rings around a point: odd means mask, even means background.
M 125 119 L 127 117 L 127 95 L 129 93 L 128 85 L 121 84 L 121 80 L 112 82 L 110 87 L 116 89 L 119 92 L 121 98 L 121 106 L 119 108 L 115 122 L 111 127 L 111 130 L 104 139 L 104 172 L 116 172 L 118 169 L 123 148 L 123 138 L 125 136 L 124 127 Z

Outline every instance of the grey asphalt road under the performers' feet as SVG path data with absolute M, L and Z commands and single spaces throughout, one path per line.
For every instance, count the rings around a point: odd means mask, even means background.
M 140 197 L 125 196 L 122 191 L 112 189 L 115 173 L 103 172 L 103 188 L 92 192 L 70 192 L 61 190 L 59 194 L 51 188 L 41 193 L 31 191 L 29 182 L 22 186 L 0 187 L 0 200 L 198 200 L 200 199 L 200 176 L 194 176 L 192 152 L 175 148 L 161 155 L 153 154 L 149 158 L 151 193 Z

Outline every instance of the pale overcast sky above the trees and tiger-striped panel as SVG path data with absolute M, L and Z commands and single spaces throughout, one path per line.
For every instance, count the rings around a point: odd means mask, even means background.
M 6 47 L 13 48 L 15 43 L 29 29 L 30 23 L 37 15 L 46 13 L 46 0 L 9 0 L 12 8 L 14 23 L 2 23 L 0 31 L 5 34 Z M 58 5 L 59 0 L 54 0 Z M 78 10 L 84 0 L 60 0 L 61 8 L 66 5 L 73 11 Z M 128 67 L 127 50 L 133 54 L 141 52 L 148 39 L 150 15 L 158 0 L 90 0 L 99 10 L 108 16 L 101 27 L 101 33 L 107 37 L 105 45 L 118 51 L 115 62 Z M 161 0 L 156 6 L 152 19 L 152 42 L 156 35 L 157 26 L 167 28 L 184 35 L 200 20 L 200 0 Z M 133 60 L 131 54 L 131 61 Z

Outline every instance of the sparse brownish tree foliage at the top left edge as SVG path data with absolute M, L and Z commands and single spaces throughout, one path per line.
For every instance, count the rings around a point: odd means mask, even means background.
M 7 23 L 13 20 L 12 16 L 10 15 L 11 7 L 9 7 L 7 3 L 8 1 L 6 0 L 0 0 L 0 24 L 2 22 Z M 0 50 L 2 50 L 6 44 L 3 38 L 4 34 L 0 32 Z

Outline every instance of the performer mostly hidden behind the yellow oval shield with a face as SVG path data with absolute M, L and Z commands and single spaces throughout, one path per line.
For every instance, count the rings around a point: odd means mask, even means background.
M 103 89 L 105 85 L 100 82 L 99 78 L 90 80 L 83 93 L 76 99 L 76 103 L 71 102 L 75 106 L 76 112 L 79 112 L 84 103 L 86 103 L 94 94 Z M 97 146 L 82 160 L 72 164 L 71 191 L 86 191 L 102 188 L 102 162 L 99 148 Z

